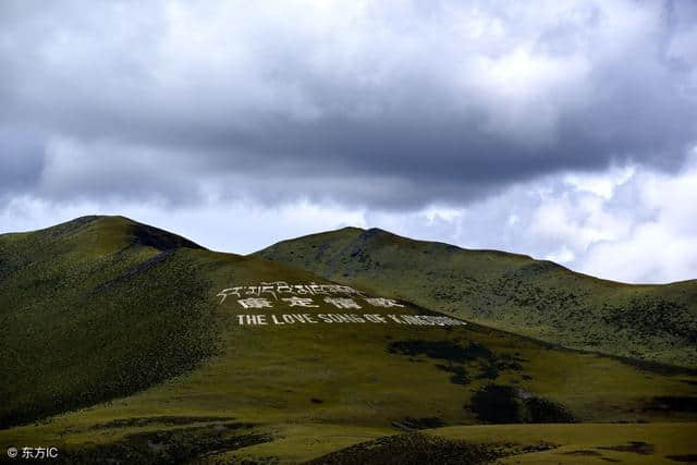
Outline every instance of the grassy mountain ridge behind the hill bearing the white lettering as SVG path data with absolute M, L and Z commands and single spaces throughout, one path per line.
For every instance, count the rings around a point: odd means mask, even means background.
M 313 234 L 255 255 L 567 347 L 697 367 L 697 280 L 629 285 L 377 229 Z

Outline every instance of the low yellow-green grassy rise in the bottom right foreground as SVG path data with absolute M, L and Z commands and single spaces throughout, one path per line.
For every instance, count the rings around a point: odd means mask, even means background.
M 694 439 L 695 424 L 684 423 L 460 426 L 367 440 L 311 463 L 676 465 L 695 463 Z

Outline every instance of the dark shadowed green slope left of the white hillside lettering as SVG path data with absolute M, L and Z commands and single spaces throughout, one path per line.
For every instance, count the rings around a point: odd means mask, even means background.
M 125 395 L 213 353 L 191 241 L 122 217 L 0 235 L 0 427 Z M 152 369 L 151 367 L 157 367 Z

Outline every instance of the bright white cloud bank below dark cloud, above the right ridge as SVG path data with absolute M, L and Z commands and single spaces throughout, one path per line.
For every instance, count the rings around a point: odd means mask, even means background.
M 550 259 L 624 282 L 697 279 L 697 150 L 677 173 L 568 172 L 462 208 L 369 213 L 367 223 L 469 248 Z

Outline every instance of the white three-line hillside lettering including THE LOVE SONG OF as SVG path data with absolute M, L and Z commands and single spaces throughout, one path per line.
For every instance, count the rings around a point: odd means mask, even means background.
M 340 284 L 289 284 L 285 281 L 261 282 L 258 285 L 227 287 L 217 294 L 220 304 L 234 302 L 243 310 L 276 311 L 284 308 L 294 314 L 284 315 L 237 315 L 241 326 L 266 325 L 315 325 L 315 323 L 399 323 L 416 326 L 463 326 L 464 321 L 433 315 L 380 315 L 355 313 L 314 313 L 322 308 L 335 310 L 362 310 L 391 308 L 399 310 L 405 306 L 392 298 L 369 297 L 365 293 Z M 301 313 L 301 311 L 313 311 Z

